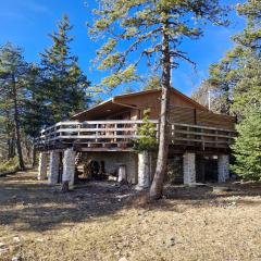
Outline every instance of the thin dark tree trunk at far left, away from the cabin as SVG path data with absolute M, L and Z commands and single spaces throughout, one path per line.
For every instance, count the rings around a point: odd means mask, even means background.
M 18 107 L 17 107 L 17 92 L 16 92 L 16 85 L 15 85 L 15 77 L 13 75 L 13 102 L 14 102 L 14 125 L 15 125 L 15 134 L 16 134 L 16 148 L 17 148 L 17 154 L 18 154 L 18 164 L 20 170 L 24 171 L 24 160 L 23 160 L 23 153 L 22 153 L 22 146 L 21 146 L 21 135 L 20 135 L 20 121 L 18 121 Z

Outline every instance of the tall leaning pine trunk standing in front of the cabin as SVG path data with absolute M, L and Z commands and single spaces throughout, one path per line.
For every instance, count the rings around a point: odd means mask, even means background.
M 163 26 L 162 40 L 162 92 L 161 92 L 161 115 L 159 152 L 157 160 L 156 174 L 150 187 L 150 198 L 159 199 L 162 197 L 163 182 L 166 170 L 169 153 L 169 112 L 170 112 L 170 88 L 171 88 L 171 55 L 167 35 L 169 22 Z

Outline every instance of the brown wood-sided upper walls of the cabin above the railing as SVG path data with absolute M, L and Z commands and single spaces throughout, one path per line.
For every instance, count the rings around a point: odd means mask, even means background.
M 170 97 L 171 123 L 196 124 L 201 126 L 235 129 L 236 119 L 210 112 L 207 108 L 173 89 Z M 116 96 L 74 120 L 141 120 L 144 111 L 150 109 L 150 120 L 159 120 L 161 91 L 150 90 L 124 96 Z

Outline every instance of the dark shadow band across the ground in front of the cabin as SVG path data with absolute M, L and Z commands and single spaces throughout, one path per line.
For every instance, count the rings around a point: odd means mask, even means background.
M 34 172 L 17 173 L 0 178 L 0 225 L 15 224 L 17 231 L 44 232 L 55 229 L 61 223 L 73 226 L 75 222 L 92 222 L 104 216 L 117 219 L 119 210 L 124 208 L 181 212 L 178 204 L 224 207 L 235 202 L 235 197 L 237 203 L 259 204 L 245 196 L 260 197 L 260 185 L 229 186 L 231 191 L 221 194 L 213 194 L 211 187 L 167 186 L 164 199 L 149 203 L 145 192 L 128 186 L 96 182 L 61 194 L 59 187 L 51 188 L 46 182 L 36 181 Z

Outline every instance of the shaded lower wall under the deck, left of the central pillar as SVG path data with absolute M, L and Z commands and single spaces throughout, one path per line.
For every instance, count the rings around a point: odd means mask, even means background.
M 107 173 L 113 174 L 117 172 L 120 165 L 126 165 L 127 181 L 132 184 L 138 182 L 138 156 L 135 152 L 128 151 L 91 151 L 83 152 L 82 164 L 89 160 L 104 162 Z

